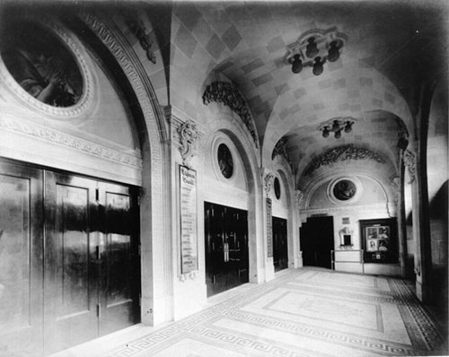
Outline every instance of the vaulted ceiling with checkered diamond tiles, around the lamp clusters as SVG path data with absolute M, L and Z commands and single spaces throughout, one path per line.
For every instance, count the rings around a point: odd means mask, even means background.
M 271 158 L 277 141 L 286 136 L 297 174 L 307 164 L 301 162 L 304 158 L 310 161 L 341 144 L 382 152 L 394 162 L 398 126 L 392 117 L 411 127 L 409 103 L 402 93 L 411 86 L 415 63 L 401 59 L 401 70 L 392 67 L 397 57 L 408 53 L 410 43 L 421 43 L 417 36 L 423 31 L 438 31 L 417 21 L 422 10 L 418 3 L 392 8 L 353 2 L 180 2 L 172 38 L 175 52 L 179 49 L 182 56 L 173 55 L 172 67 L 180 65 L 177 58 L 183 65 L 179 76 L 173 69 L 172 81 L 182 82 L 181 77 L 189 75 L 189 83 L 204 87 L 210 74 L 219 73 L 236 83 L 255 119 L 263 160 Z M 339 60 L 326 63 L 320 76 L 310 67 L 292 74 L 286 46 L 306 30 L 331 27 L 348 36 Z M 198 97 L 188 100 L 200 103 Z M 344 116 L 358 119 L 353 133 L 323 139 L 317 126 Z

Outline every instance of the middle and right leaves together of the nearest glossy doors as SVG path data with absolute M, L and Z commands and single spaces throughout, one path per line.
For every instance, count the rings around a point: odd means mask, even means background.
M 45 348 L 138 322 L 136 202 L 128 187 L 45 172 Z

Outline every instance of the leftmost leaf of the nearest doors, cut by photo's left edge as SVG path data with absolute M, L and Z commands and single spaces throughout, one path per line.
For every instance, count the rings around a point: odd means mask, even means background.
M 0 161 L 0 355 L 42 353 L 42 172 Z

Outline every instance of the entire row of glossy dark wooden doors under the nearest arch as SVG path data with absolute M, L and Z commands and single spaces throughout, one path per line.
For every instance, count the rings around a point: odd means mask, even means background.
M 0 168 L 0 352 L 54 353 L 136 324 L 135 187 Z

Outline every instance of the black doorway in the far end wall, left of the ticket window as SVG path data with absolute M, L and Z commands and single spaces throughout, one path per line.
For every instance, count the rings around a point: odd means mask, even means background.
M 309 217 L 300 229 L 304 266 L 331 268 L 330 252 L 334 248 L 332 216 Z

